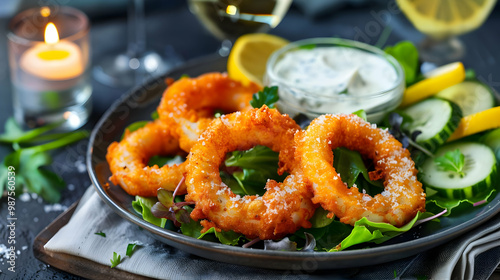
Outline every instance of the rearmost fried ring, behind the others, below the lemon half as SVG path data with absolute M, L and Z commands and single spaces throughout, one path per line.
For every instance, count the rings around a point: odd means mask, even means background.
M 259 90 L 254 83 L 244 86 L 222 73 L 185 77 L 166 89 L 158 114 L 162 121 L 176 127 L 181 148 L 189 152 L 214 119 L 216 110 L 224 113 L 249 110 L 252 95 Z

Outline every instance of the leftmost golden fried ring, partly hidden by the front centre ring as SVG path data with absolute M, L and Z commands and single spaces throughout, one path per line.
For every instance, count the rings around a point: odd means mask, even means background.
M 154 155 L 184 153 L 161 121 L 147 123 L 134 132 L 126 131 L 125 137 L 108 147 L 106 160 L 113 174 L 111 182 L 120 185 L 130 195 L 156 196 L 159 188 L 174 191 L 186 170 L 186 162 L 158 167 L 147 166 Z M 186 193 L 181 185 L 179 194 Z

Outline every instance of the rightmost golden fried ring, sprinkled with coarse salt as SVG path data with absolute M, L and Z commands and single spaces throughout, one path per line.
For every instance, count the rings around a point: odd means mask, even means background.
M 313 202 L 346 224 L 362 217 L 402 226 L 425 209 L 425 193 L 407 149 L 387 131 L 355 115 L 323 115 L 296 136 L 297 157 L 312 183 Z M 373 160 L 384 178 L 384 191 L 371 197 L 357 187 L 347 188 L 337 174 L 332 150 L 346 147 Z

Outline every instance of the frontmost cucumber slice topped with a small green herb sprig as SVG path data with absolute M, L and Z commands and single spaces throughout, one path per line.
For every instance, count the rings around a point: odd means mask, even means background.
M 495 155 L 486 145 L 476 142 L 459 142 L 440 147 L 435 156 L 459 149 L 465 157 L 462 177 L 456 172 L 443 171 L 434 158 L 428 158 L 421 167 L 421 181 L 443 197 L 452 199 L 474 198 L 494 188 L 498 183 Z

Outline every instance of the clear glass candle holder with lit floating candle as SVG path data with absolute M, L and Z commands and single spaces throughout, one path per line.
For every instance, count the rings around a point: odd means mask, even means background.
M 28 128 L 84 125 L 92 109 L 89 20 L 74 8 L 23 11 L 9 23 L 8 51 L 16 121 Z

